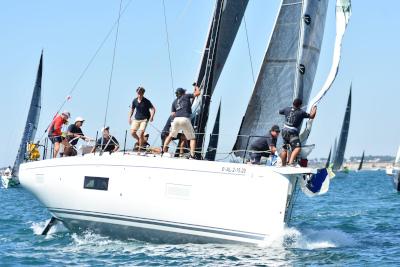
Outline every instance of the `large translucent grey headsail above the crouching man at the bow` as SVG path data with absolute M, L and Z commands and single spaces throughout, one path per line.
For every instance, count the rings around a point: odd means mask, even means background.
M 307 104 L 325 27 L 327 0 L 283 0 L 233 150 L 243 156 L 251 137 L 282 125 L 278 110 L 294 97 Z

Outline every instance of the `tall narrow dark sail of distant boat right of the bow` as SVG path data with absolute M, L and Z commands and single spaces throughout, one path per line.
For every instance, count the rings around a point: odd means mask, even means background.
M 344 114 L 342 130 L 340 131 L 339 142 L 336 150 L 335 160 L 333 161 L 333 170 L 339 170 L 342 167 L 344 160 L 344 153 L 346 151 L 347 137 L 350 128 L 350 115 L 351 115 L 351 85 L 349 98 L 347 100 L 346 113 Z

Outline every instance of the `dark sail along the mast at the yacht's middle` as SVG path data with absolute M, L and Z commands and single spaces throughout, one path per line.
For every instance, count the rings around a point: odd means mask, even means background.
M 198 149 L 203 149 L 211 96 L 232 48 L 248 0 L 217 0 L 200 64 L 197 84 L 201 96 L 193 103 L 194 129 Z

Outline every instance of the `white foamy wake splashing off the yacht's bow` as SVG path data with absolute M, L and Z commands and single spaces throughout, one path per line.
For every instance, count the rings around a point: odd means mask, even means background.
M 340 230 L 303 230 L 286 228 L 283 236 L 283 246 L 298 249 L 324 249 L 353 246 L 355 240 Z

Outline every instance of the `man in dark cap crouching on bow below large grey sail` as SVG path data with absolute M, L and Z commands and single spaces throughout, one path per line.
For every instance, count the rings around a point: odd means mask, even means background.
M 259 137 L 251 143 L 249 148 L 251 164 L 260 164 L 261 157 L 269 157 L 271 154 L 275 154 L 276 141 L 280 131 L 279 126 L 274 125 L 265 136 Z

